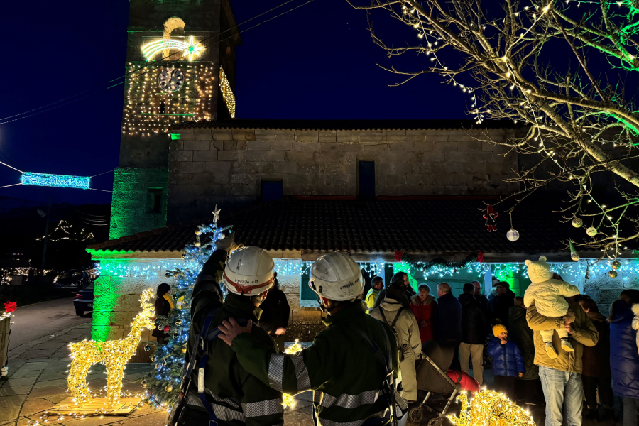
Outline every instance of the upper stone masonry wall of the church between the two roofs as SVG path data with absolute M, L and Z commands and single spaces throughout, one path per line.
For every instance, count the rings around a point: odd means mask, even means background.
M 490 131 L 501 140 L 506 130 Z M 516 155 L 464 130 L 185 129 L 169 152 L 168 221 L 215 204 L 255 202 L 261 180 L 284 195 L 356 195 L 358 161 L 375 162 L 376 195 L 500 195 Z M 475 133 L 478 135 L 479 133 Z

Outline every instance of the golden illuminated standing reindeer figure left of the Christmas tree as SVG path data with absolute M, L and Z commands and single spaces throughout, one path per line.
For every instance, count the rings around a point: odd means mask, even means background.
M 124 339 L 109 340 L 107 342 L 94 342 L 85 340 L 84 342 L 72 343 L 71 346 L 71 368 L 67 383 L 69 391 L 75 398 L 75 403 L 82 407 L 84 403 L 91 401 L 91 393 L 87 387 L 87 373 L 93 364 L 99 362 L 107 366 L 107 400 L 109 408 L 120 400 L 122 389 L 122 378 L 124 377 L 124 364 L 136 354 L 140 343 L 143 328 L 153 329 L 153 316 L 155 307 L 153 306 L 153 290 L 144 290 L 140 297 L 142 312 L 136 315 L 131 324 L 131 332 Z

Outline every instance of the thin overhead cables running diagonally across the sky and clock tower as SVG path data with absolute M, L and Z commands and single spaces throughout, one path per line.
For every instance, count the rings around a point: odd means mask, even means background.
M 271 11 L 275 10 L 275 9 L 278 9 L 278 8 L 280 8 L 281 6 L 284 6 L 285 4 L 290 3 L 291 1 L 294 1 L 294 0 L 288 0 L 288 1 L 285 1 L 283 4 L 280 4 L 280 5 L 278 5 L 278 6 L 275 6 L 274 8 L 269 9 L 269 10 L 268 10 L 268 11 L 266 11 L 266 12 L 260 13 L 260 14 L 259 14 L 259 15 L 257 15 L 257 16 L 253 16 L 253 18 L 249 18 L 248 20 L 246 20 L 246 21 L 244 21 L 244 22 L 242 22 L 242 23 L 239 23 L 239 24 L 237 24 L 236 26 L 234 26 L 234 27 L 232 27 L 232 28 L 229 28 L 229 29 L 227 29 L 227 30 L 224 30 L 224 31 L 222 31 L 221 33 L 217 33 L 217 34 L 215 34 L 215 35 L 211 35 L 211 36 L 209 36 L 209 37 L 207 37 L 207 38 L 204 38 L 204 39 L 203 39 L 202 41 L 200 41 L 198 44 L 204 43 L 204 41 L 209 40 L 209 39 L 211 39 L 211 38 L 219 37 L 219 35 L 222 35 L 223 33 L 226 33 L 227 31 L 231 31 L 231 30 L 233 30 L 233 29 L 235 29 L 235 28 L 238 28 L 239 26 L 244 25 L 244 23 L 247 23 L 247 22 L 253 21 L 253 19 L 256 19 L 256 18 L 258 18 L 258 17 L 260 17 L 260 16 L 265 15 L 266 13 L 269 13 L 269 12 L 271 12 Z M 307 4 L 311 3 L 312 1 L 314 1 L 314 0 L 309 0 L 309 1 L 307 1 L 306 3 L 304 3 L 304 4 L 301 4 L 300 6 L 296 6 L 296 7 L 294 7 L 293 9 L 289 9 L 288 11 L 285 11 L 285 12 L 283 12 L 283 13 L 280 13 L 279 15 L 276 15 L 276 16 L 274 16 L 273 18 L 269 18 L 269 19 L 267 19 L 266 21 L 263 21 L 263 22 L 261 22 L 261 23 L 258 23 L 258 24 L 256 24 L 256 25 L 251 26 L 251 27 L 249 27 L 249 28 L 246 28 L 246 29 L 244 29 L 244 30 L 238 31 L 238 33 L 239 33 L 239 34 L 244 33 L 244 32 L 246 32 L 246 31 L 249 31 L 249 30 L 253 29 L 253 28 L 256 28 L 256 27 L 258 27 L 258 26 L 261 26 L 263 23 L 266 23 L 266 22 L 268 22 L 268 21 L 273 21 L 273 19 L 275 19 L 275 18 L 279 18 L 280 16 L 283 16 L 283 15 L 285 15 L 286 13 L 289 13 L 289 12 L 291 12 L 291 11 L 294 11 L 295 9 L 299 9 L 299 8 L 300 8 L 300 7 L 302 7 L 302 6 L 306 6 Z M 205 45 L 205 46 L 204 46 L 204 48 L 212 47 L 212 46 L 214 46 L 214 45 L 217 45 L 217 44 L 219 44 L 219 43 L 222 43 L 222 41 L 229 40 L 230 38 L 233 38 L 233 37 L 234 37 L 234 35 L 231 35 L 230 37 L 227 37 L 227 38 L 224 38 L 224 39 L 222 39 L 222 40 L 217 41 L 217 43 L 212 43 L 212 44 L 209 44 L 209 45 Z M 148 65 L 145 65 L 143 68 L 146 68 L 146 67 L 153 67 L 153 66 L 155 66 L 155 68 L 153 68 L 153 69 L 151 69 L 151 70 L 148 70 L 147 72 L 143 72 L 143 73 L 141 73 L 141 74 L 135 75 L 135 76 L 133 76 L 132 78 L 137 78 L 137 77 L 140 77 L 140 76 L 142 76 L 142 75 L 145 75 L 145 74 L 147 74 L 148 72 L 151 72 L 151 71 L 155 70 L 155 69 L 156 69 L 156 68 L 158 68 L 158 67 L 165 67 L 165 66 L 166 66 L 166 64 L 167 64 L 167 62 L 178 62 L 180 59 L 182 59 L 182 58 L 184 58 L 184 57 L 185 57 L 185 55 L 182 55 L 182 56 L 180 56 L 180 58 L 177 58 L 177 59 L 175 59 L 175 60 L 173 60 L 173 61 L 163 61 L 164 59 L 168 59 L 168 58 L 170 58 L 171 56 L 173 56 L 173 55 L 175 55 L 175 54 L 176 54 L 176 53 L 170 54 L 170 55 L 168 55 L 168 56 L 166 56 L 166 57 L 160 58 L 160 60 L 157 60 L 157 61 L 151 62 L 151 63 L 150 63 L 150 64 L 148 64 Z M 126 74 L 124 74 L 124 75 L 122 75 L 122 76 L 120 76 L 120 77 L 116 77 L 116 78 L 115 78 L 115 79 L 113 79 L 113 80 L 109 80 L 109 83 L 110 83 L 110 82 L 114 82 L 114 81 L 116 81 L 116 80 L 119 80 L 119 79 L 121 79 L 121 78 L 125 78 L 125 79 L 126 79 L 126 77 L 128 77 L 129 75 L 131 75 L 131 74 L 133 74 L 133 73 L 135 73 L 135 72 L 138 72 L 138 71 L 139 71 L 139 69 L 138 69 L 138 70 L 133 70 L 133 71 L 131 71 L 131 72 L 127 72 Z M 130 80 L 132 80 L 132 79 L 130 79 Z M 21 112 L 21 113 L 19 113 L 19 114 L 14 114 L 14 115 L 12 115 L 12 116 L 6 116 L 6 117 L 4 117 L 4 118 L 0 119 L 0 126 L 1 126 L 1 125 L 3 125 L 3 124 L 9 124 L 9 123 L 12 123 L 13 121 L 18 121 L 18 120 L 21 120 L 21 119 L 26 119 L 26 118 L 28 118 L 28 117 L 31 117 L 31 116 L 35 116 L 35 115 L 41 114 L 41 113 L 43 113 L 43 112 L 45 112 L 45 111 L 50 111 L 50 110 L 52 110 L 52 109 L 60 108 L 60 107 L 62 107 L 62 106 L 64 106 L 64 105 L 66 105 L 66 104 L 70 104 L 70 103 L 72 103 L 72 102 L 79 101 L 80 99 L 84 99 L 85 97 L 89 97 L 92 93 L 89 93 L 89 94 L 87 94 L 87 95 L 85 95 L 85 96 L 83 96 L 83 97 L 79 97 L 79 98 L 78 98 L 78 96 L 80 96 L 81 94 L 84 94 L 84 93 L 87 93 L 87 92 L 95 92 L 95 91 L 101 91 L 101 90 L 108 90 L 108 89 L 111 89 L 112 87 L 116 87 L 116 86 L 119 86 L 120 84 L 124 84 L 125 82 L 126 82 L 126 80 L 124 80 L 124 81 L 122 81 L 122 82 L 118 82 L 118 83 L 116 83 L 116 84 L 112 84 L 111 86 L 106 87 L 106 88 L 104 88 L 104 89 L 102 89 L 102 88 L 97 88 L 97 89 L 93 89 L 92 91 L 84 90 L 84 92 L 80 92 L 80 93 L 75 94 L 75 95 L 72 95 L 72 96 L 70 96 L 70 97 L 66 97 L 66 98 L 64 98 L 64 99 L 60 99 L 60 100 L 55 101 L 55 102 L 51 102 L 50 104 L 43 105 L 42 107 L 34 108 L 34 109 L 29 110 L 29 111 L 24 111 L 24 112 Z M 65 102 L 64 104 L 59 104 L 60 102 L 64 102 L 64 101 L 65 101 L 65 100 L 67 100 L 67 99 L 71 99 L 71 100 L 70 100 L 69 102 Z M 46 108 L 46 107 L 50 107 L 51 105 L 55 105 L 55 104 L 59 104 L 59 105 L 56 105 L 55 107 L 51 107 L 51 108 L 45 109 L 44 111 L 40 111 L 41 109 L 44 109 L 44 108 Z M 36 112 L 33 112 L 33 111 L 36 111 Z M 28 114 L 28 113 L 30 113 L 30 112 L 33 112 L 33 114 Z M 27 116 L 22 116 L 23 114 L 28 114 L 28 115 L 27 115 Z M 20 118 L 18 118 L 18 119 L 13 119 L 13 120 L 9 120 L 9 121 L 6 121 L 7 119 L 11 119 L 11 118 L 13 118 L 13 117 L 18 117 L 18 116 L 20 116 Z

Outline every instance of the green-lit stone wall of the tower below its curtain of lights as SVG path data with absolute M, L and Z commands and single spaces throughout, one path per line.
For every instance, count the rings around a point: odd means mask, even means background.
M 161 188 L 162 207 L 148 207 L 148 188 Z M 109 239 L 150 231 L 166 225 L 168 173 L 165 168 L 116 168 L 111 201 Z

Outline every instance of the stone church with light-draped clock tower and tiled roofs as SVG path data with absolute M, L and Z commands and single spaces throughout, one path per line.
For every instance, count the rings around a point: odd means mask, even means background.
M 184 267 L 182 249 L 216 205 L 236 241 L 275 259 L 292 309 L 288 339 L 312 340 L 323 327 L 307 282 L 329 251 L 349 253 L 368 282 L 406 271 L 413 286 L 446 281 L 456 295 L 471 280 L 488 293 L 493 275 L 523 294 L 523 261 L 541 254 L 604 307 L 637 284 L 635 273 L 611 279 L 570 261 L 562 239 L 578 231 L 552 209 L 523 209 L 516 222 L 502 212 L 486 231 L 482 211 L 518 189 L 510 178 L 520 158 L 476 136 L 513 136 L 508 122 L 236 118 L 235 27 L 228 0 L 131 0 L 111 240 L 87 248 L 102 270 L 94 339 L 128 332 L 142 290 Z M 517 241 L 506 238 L 511 226 Z M 481 251 L 483 261 L 424 273 L 397 251 L 415 261 Z

